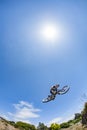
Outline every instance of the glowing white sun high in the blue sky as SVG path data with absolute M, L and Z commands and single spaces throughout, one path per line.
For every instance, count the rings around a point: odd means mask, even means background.
M 58 38 L 57 26 L 53 24 L 45 24 L 41 28 L 41 37 L 44 41 L 55 42 Z

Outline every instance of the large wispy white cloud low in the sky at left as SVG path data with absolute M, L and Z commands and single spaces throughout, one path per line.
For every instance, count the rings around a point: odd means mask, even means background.
M 30 123 L 30 118 L 38 118 L 39 114 L 37 112 L 40 109 L 34 108 L 32 104 L 20 101 L 18 104 L 13 104 L 15 112 L 8 112 L 10 118 L 14 121 L 24 121 Z

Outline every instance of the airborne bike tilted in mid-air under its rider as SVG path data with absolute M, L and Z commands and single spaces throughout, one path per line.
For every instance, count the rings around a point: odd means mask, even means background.
M 70 89 L 70 87 L 64 86 L 62 89 L 60 89 L 60 90 L 57 91 L 57 94 L 58 94 L 58 95 L 63 95 L 63 94 L 65 94 L 65 93 L 67 93 L 67 92 L 69 91 L 69 89 Z M 57 95 L 57 94 L 56 94 L 56 95 Z M 42 102 L 43 102 L 43 103 L 46 103 L 46 102 L 49 102 L 49 101 L 51 101 L 51 100 L 54 100 L 55 97 L 56 97 L 56 95 L 48 95 L 48 97 L 45 98 L 45 99 L 43 99 Z

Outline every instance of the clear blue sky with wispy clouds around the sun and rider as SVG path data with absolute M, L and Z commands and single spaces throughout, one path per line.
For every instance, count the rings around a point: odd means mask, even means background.
M 86 7 L 86 0 L 0 0 L 1 116 L 49 125 L 81 111 L 87 93 Z M 41 37 L 46 23 L 59 28 L 59 39 Z M 43 104 L 57 83 L 70 91 Z

